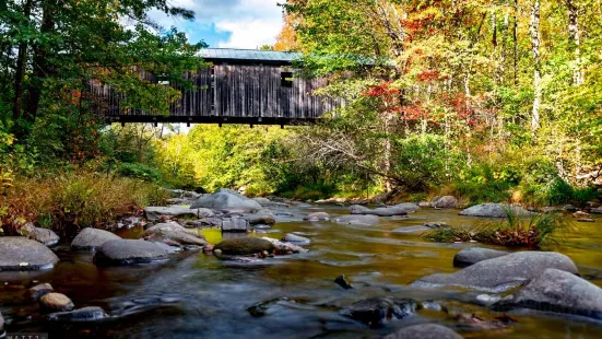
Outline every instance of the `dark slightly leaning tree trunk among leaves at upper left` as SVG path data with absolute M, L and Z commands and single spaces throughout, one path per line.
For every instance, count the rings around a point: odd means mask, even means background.
M 61 0 L 49 0 L 42 3 L 42 25 L 39 32 L 42 34 L 49 34 L 55 31 L 56 26 L 56 13 L 60 7 Z M 35 121 L 37 109 L 39 107 L 39 100 L 42 97 L 42 91 L 46 78 L 51 72 L 50 65 L 47 60 L 48 46 L 43 44 L 36 44 L 33 46 L 34 59 L 33 59 L 33 74 L 31 79 L 31 85 L 27 91 L 27 98 L 25 104 L 25 110 L 23 112 L 23 118 L 29 124 Z M 23 136 L 22 136 L 23 137 Z

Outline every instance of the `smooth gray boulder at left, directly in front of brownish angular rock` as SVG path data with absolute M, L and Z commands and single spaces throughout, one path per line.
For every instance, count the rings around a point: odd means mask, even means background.
M 145 264 L 165 259 L 167 252 L 161 246 L 145 241 L 108 241 L 98 247 L 94 264 L 98 266 L 121 266 Z

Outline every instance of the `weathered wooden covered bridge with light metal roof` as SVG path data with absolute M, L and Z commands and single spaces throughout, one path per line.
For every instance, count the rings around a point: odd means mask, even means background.
M 93 95 L 109 103 L 98 113 L 113 122 L 296 125 L 312 122 L 342 104 L 341 100 L 314 95 L 327 80 L 294 77 L 297 54 L 206 48 L 200 56 L 211 67 L 184 74 L 192 80 L 193 91 L 166 84 L 181 91 L 169 115 L 125 110 L 120 93 L 106 84 L 91 83 Z M 158 82 L 153 74 L 144 77 Z

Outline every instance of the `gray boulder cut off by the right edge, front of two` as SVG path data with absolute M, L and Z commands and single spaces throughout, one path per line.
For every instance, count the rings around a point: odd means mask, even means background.
M 602 320 L 602 289 L 571 272 L 546 269 L 527 287 L 493 305 L 496 311 L 532 308 Z

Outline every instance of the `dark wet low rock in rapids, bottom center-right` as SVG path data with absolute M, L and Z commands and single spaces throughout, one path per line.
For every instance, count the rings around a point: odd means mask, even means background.
M 417 308 L 416 301 L 389 296 L 376 296 L 359 301 L 341 311 L 341 315 L 368 325 L 381 327 L 391 319 L 402 319 Z

